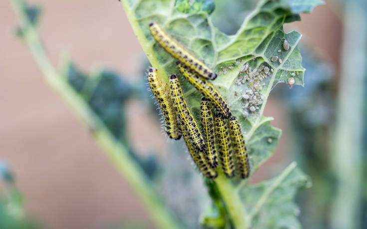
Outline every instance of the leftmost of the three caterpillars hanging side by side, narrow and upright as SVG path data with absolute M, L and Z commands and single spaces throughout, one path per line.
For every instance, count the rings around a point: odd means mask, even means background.
M 200 103 L 201 129 L 206 144 L 206 158 L 212 168 L 218 166 L 217 149 L 215 147 L 214 137 L 214 119 L 213 112 L 208 99 L 203 97 Z

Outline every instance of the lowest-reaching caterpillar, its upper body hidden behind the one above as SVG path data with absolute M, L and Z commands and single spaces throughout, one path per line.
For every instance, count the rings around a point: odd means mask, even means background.
M 194 160 L 195 164 L 200 169 L 200 171 L 204 174 L 205 177 L 207 177 L 209 179 L 215 179 L 218 176 L 217 172 L 215 171 L 214 168 L 210 167 L 210 165 L 206 161 L 206 158 L 205 158 L 205 155 L 204 155 L 203 151 L 199 151 L 199 153 L 195 152 L 195 150 L 193 149 L 193 147 L 190 143 L 190 140 L 187 136 L 187 133 L 186 133 L 185 129 L 183 128 L 183 125 L 184 125 L 184 123 L 182 123 L 180 125 L 180 128 L 181 128 L 184 140 L 186 142 L 187 149 L 189 150 L 192 159 Z

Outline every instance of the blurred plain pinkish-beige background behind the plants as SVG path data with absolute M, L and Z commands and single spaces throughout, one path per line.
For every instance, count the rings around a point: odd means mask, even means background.
M 117 0 L 30 2 L 43 7 L 40 34 L 55 65 L 68 52 L 85 71 L 106 65 L 128 75 L 138 73 L 142 49 Z M 319 6 L 290 26 L 335 66 L 341 42 L 337 10 Z M 14 171 L 26 211 L 52 229 L 96 229 L 130 221 L 149 227 L 149 216 L 88 128 L 47 86 L 27 47 L 13 37 L 16 24 L 9 1 L 1 0 L 0 160 Z M 283 129 L 276 155 L 266 166 L 284 165 L 292 158 L 287 156 L 288 121 L 282 103 L 271 99 L 265 114 Z M 128 118 L 130 127 L 136 127 L 131 138 L 138 149 L 165 152 L 166 139 L 146 108 L 129 104 Z M 141 118 L 146 121 L 138 122 Z

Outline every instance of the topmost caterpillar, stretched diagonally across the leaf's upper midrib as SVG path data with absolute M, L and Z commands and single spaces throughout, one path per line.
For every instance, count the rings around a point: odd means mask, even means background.
M 214 80 L 217 78 L 217 74 L 214 73 L 205 63 L 196 58 L 192 53 L 189 52 L 180 42 L 174 39 L 164 29 L 159 26 L 157 22 L 149 24 L 150 33 L 154 39 L 173 57 L 189 66 L 202 77 Z

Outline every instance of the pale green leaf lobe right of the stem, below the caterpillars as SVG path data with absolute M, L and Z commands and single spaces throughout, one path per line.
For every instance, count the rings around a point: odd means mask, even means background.
M 239 195 L 250 213 L 253 228 L 300 229 L 300 210 L 293 203 L 299 188 L 310 187 L 310 180 L 296 167 L 289 165 L 278 177 L 241 189 Z

